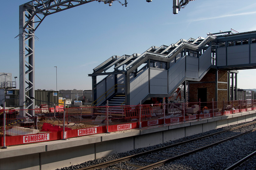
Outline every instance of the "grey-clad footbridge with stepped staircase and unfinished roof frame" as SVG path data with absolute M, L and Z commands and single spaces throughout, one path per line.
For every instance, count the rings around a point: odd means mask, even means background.
M 93 104 L 106 104 L 108 100 L 112 105 L 137 105 L 151 97 L 167 99 L 181 85 L 186 102 L 186 83 L 201 81 L 210 69 L 229 72 L 255 68 L 256 31 L 228 31 L 209 33 L 206 38 L 180 39 L 169 46 L 151 46 L 142 54 L 112 56 L 89 76 Z M 96 83 L 100 75 L 106 77 Z

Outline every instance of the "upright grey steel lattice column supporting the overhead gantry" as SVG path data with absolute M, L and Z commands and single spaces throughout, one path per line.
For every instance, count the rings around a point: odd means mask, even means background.
M 33 12 L 29 12 L 32 15 Z M 34 18 L 29 22 L 29 27 L 24 29 L 25 9 L 20 5 L 19 18 L 19 58 L 20 58 L 20 109 L 29 109 L 29 114 L 34 116 Z M 27 43 L 26 43 L 27 42 Z M 20 116 L 25 117 L 25 112 L 20 111 Z

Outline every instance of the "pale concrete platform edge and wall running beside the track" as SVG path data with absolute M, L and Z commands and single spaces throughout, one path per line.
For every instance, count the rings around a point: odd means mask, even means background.
M 142 129 L 95 134 L 66 141 L 9 146 L 0 150 L 0 169 L 51 170 L 115 153 L 176 140 L 219 127 L 252 121 L 256 111 Z

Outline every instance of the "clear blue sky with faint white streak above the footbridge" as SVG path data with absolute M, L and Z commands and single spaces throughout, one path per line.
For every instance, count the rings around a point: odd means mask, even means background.
M 19 77 L 19 41 L 14 37 L 19 34 L 19 5 L 26 2 L 1 1 L 0 72 L 12 73 L 12 78 Z M 54 66 L 58 90 L 91 90 L 88 74 L 113 55 L 141 54 L 151 46 L 219 30 L 256 30 L 255 0 L 197 0 L 176 15 L 172 0 L 127 2 L 127 7 L 117 1 L 109 7 L 95 1 L 47 16 L 35 32 L 35 89 L 56 89 Z M 239 71 L 238 88 L 255 84 L 255 70 Z

